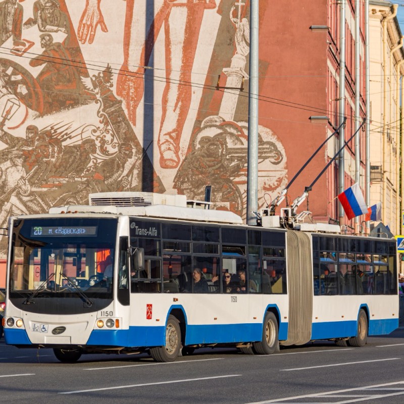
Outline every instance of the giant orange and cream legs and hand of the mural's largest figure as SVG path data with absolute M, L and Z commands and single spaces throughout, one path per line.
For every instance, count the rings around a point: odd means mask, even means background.
M 92 43 L 99 25 L 107 32 L 101 0 L 86 0 L 86 6 L 78 26 L 78 39 Z M 156 4 L 157 3 L 157 4 Z M 143 9 L 142 6 L 144 5 Z M 124 27 L 124 62 L 117 82 L 117 94 L 125 102 L 128 118 L 136 126 L 136 111 L 143 97 L 143 74 L 151 52 L 164 24 L 166 85 L 162 96 L 162 117 L 158 146 L 160 166 L 176 168 L 179 165 L 179 149 L 182 130 L 191 103 L 191 72 L 200 36 L 201 23 L 206 9 L 215 9 L 215 0 L 160 0 L 154 2 L 154 18 L 143 25 L 147 2 L 126 2 Z M 144 32 L 147 32 L 143 40 Z M 128 74 L 129 73 L 129 74 Z M 184 84 L 182 84 L 184 83 Z

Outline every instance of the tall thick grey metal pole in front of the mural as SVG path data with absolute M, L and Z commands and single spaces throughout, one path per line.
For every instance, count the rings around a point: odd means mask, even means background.
M 259 0 L 250 2 L 250 52 L 248 92 L 247 224 L 254 226 L 258 210 L 258 16 Z

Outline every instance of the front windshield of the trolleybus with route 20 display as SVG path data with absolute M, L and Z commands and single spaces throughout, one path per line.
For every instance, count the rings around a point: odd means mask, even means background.
M 14 222 L 10 297 L 112 297 L 117 219 Z

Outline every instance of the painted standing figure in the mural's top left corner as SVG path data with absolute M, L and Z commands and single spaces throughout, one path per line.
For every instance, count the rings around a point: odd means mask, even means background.
M 21 39 L 24 10 L 17 0 L 5 0 L 0 3 L 0 45 L 11 36 Z

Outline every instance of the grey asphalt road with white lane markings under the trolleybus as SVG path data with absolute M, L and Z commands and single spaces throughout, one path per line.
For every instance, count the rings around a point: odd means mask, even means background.
M 141 356 L 82 356 L 62 364 L 50 349 L 0 340 L 0 401 L 47 404 L 402 403 L 404 329 L 362 348 L 315 342 L 271 356 L 204 348 L 174 363 Z

